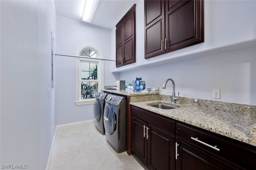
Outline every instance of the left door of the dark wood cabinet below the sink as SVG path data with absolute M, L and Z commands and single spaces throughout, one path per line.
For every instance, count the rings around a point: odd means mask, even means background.
M 146 125 L 146 122 L 132 117 L 132 151 L 144 164 L 147 164 Z

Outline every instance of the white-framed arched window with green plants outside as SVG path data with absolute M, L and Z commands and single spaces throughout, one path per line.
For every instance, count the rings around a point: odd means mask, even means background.
M 76 105 L 94 103 L 98 90 L 103 87 L 104 61 L 97 59 L 98 51 L 85 46 L 78 53 L 85 58 L 76 58 Z

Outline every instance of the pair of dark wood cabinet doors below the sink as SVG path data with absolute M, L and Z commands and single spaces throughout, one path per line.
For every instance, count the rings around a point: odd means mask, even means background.
M 134 110 L 133 110 L 134 111 Z M 144 114 L 145 119 L 154 119 Z M 175 137 L 132 116 L 132 151 L 152 170 L 175 169 Z

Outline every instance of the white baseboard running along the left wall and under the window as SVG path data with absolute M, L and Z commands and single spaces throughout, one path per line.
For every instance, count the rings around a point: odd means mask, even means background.
M 57 125 L 56 128 L 55 128 L 53 139 L 52 139 L 52 146 L 51 146 L 51 150 L 50 150 L 46 170 L 49 170 L 49 168 L 50 168 L 50 162 L 52 160 L 52 152 L 53 152 L 55 138 L 56 138 L 56 134 L 57 134 L 58 130 L 65 130 L 65 129 L 76 128 L 76 127 L 83 127 L 83 126 L 93 125 L 93 124 L 95 124 L 95 119 L 89 120 L 89 121 L 68 123 L 68 124 L 64 124 L 64 125 Z

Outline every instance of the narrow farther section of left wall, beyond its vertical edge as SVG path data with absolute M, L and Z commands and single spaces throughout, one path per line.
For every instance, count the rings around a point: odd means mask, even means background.
M 39 125 L 40 125 L 40 167 L 45 169 L 56 127 L 55 89 L 51 87 L 51 32 L 54 49 L 56 36 L 56 12 L 54 1 L 38 1 L 38 59 L 39 59 Z M 54 59 L 54 79 L 55 79 Z M 48 96 L 48 89 L 50 94 Z

